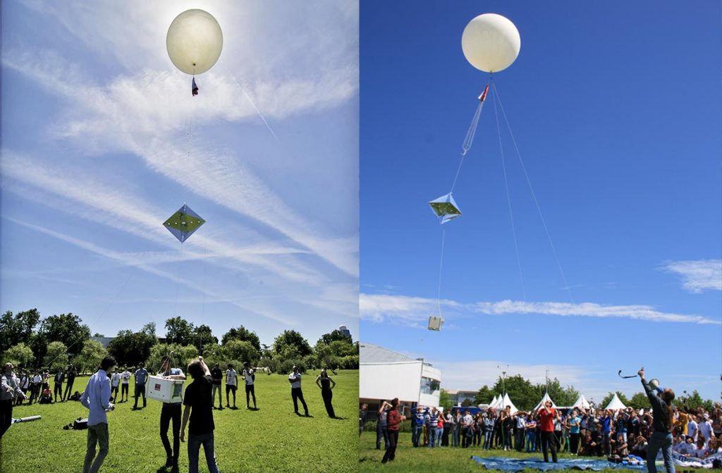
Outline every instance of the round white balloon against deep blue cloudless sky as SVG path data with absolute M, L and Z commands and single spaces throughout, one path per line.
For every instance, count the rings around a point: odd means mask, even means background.
M 519 55 L 520 48 L 516 26 L 500 14 L 480 14 L 466 25 L 461 35 L 466 61 L 486 72 L 506 69 Z

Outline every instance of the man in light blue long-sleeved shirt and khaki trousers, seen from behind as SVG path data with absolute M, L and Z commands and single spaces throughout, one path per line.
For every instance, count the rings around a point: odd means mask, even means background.
M 80 403 L 90 409 L 88 415 L 88 442 L 83 463 L 83 473 L 97 473 L 103 466 L 105 456 L 108 455 L 108 415 L 114 406 L 110 404 L 110 379 L 108 370 L 116 364 L 116 359 L 110 356 L 103 358 L 100 369 L 90 376 L 85 391 L 80 396 Z M 95 446 L 100 448 L 95 456 Z

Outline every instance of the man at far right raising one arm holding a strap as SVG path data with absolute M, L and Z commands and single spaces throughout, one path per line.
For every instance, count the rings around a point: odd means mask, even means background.
M 674 461 L 672 461 L 672 406 L 674 391 L 665 389 L 660 396 L 656 390 L 649 386 L 644 378 L 644 368 L 637 372 L 642 380 L 642 386 L 647 393 L 649 402 L 652 404 L 652 435 L 647 441 L 647 471 L 657 473 L 657 466 L 654 463 L 657 459 L 657 452 L 662 449 L 664 458 L 664 469 L 666 473 L 674 473 Z

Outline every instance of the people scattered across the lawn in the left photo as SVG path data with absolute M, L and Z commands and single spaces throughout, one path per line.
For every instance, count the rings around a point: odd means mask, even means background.
M 69 365 L 67 369 L 58 370 L 58 373 L 53 376 L 55 399 L 50 391 L 51 375 L 47 370 L 38 370 L 31 377 L 27 370 L 19 370 L 15 373 L 13 368 L 12 363 L 6 363 L 0 376 L 0 438 L 12 423 L 12 408 L 21 405 L 26 399 L 28 404 L 35 401 L 48 404 L 69 400 L 79 401 L 90 411 L 87 418 L 87 454 L 83 473 L 95 473 L 103 465 L 109 450 L 107 413 L 116 408 L 116 403 L 128 402 L 131 377 L 134 378 L 135 385 L 133 409 L 141 409 L 138 406 L 139 399 L 143 401 L 142 408 L 147 406 L 146 387 L 150 373 L 143 363 L 140 363 L 137 368 L 116 368 L 116 360 L 110 356 L 105 357 L 100 363 L 100 369 L 90 376 L 82 394 L 75 391 L 72 395 L 69 393 L 78 373 L 73 365 Z M 213 409 L 223 409 L 221 386 L 224 377 L 226 407 L 235 409 L 235 393 L 239 376 L 232 364 L 227 365 L 225 372 L 221 370 L 219 363 L 215 363 L 211 370 L 206 366 L 202 357 L 193 360 L 187 370 L 193 378 L 193 382 L 186 387 L 182 401 L 162 404 L 160 438 L 167 457 L 165 467 L 170 468 L 172 473 L 178 473 L 180 444 L 185 438 L 186 426 L 188 426 L 189 471 L 191 473 L 198 472 L 199 450 L 202 445 L 209 472 L 218 472 L 213 442 Z M 170 356 L 162 357 L 157 376 L 176 381 L 186 380 L 183 370 L 173 367 L 173 360 Z M 310 417 L 308 406 L 303 398 L 301 378 L 300 370 L 294 366 L 292 373 L 288 376 L 291 385 L 291 399 L 296 415 L 300 415 L 298 410 L 298 402 L 300 402 L 303 405 L 305 416 Z M 243 363 L 240 379 L 243 379 L 245 383 L 246 409 L 257 410 L 254 389 L 256 373 L 250 363 Z M 66 382 L 65 393 L 63 391 L 64 382 Z M 323 369 L 316 378 L 316 385 L 321 389 L 321 397 L 329 417 L 337 418 L 332 404 L 332 390 L 336 386 L 336 381 L 329 376 L 326 369 Z M 219 399 L 218 407 L 215 407 L 216 392 L 218 392 Z M 230 406 L 230 396 L 233 399 L 232 407 Z M 252 408 L 251 399 L 253 400 Z M 185 409 L 181 413 L 183 406 Z M 168 430 L 171 425 L 173 444 L 168 438 Z

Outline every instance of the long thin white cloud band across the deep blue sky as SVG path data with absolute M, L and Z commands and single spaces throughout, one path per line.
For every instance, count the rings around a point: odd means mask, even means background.
M 513 316 L 544 314 L 564 317 L 634 318 L 653 322 L 678 322 L 687 324 L 722 324 L 713 318 L 666 313 L 651 305 L 602 305 L 596 303 L 524 302 L 500 300 L 497 302 L 458 303 L 453 300 L 418 298 L 404 295 L 360 295 L 360 315 L 375 322 L 418 326 L 441 305 L 445 316 L 471 316 L 479 313 L 487 316 Z

